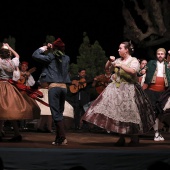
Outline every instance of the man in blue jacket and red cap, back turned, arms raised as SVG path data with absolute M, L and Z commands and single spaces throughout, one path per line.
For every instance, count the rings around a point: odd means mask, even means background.
M 56 138 L 53 145 L 67 145 L 64 129 L 63 112 L 66 100 L 66 84 L 70 84 L 69 77 L 69 56 L 65 55 L 65 44 L 58 38 L 52 44 L 37 49 L 32 57 L 44 63 L 43 71 L 40 75 L 40 84 L 48 85 L 49 106 L 52 118 L 56 126 Z M 45 86 L 46 86 L 45 85 Z

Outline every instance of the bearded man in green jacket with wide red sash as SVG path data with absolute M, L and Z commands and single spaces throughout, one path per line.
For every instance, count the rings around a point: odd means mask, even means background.
M 170 68 L 165 61 L 165 57 L 166 50 L 164 48 L 157 49 L 156 59 L 150 60 L 147 64 L 145 82 L 142 87 L 148 94 L 156 114 L 155 125 L 153 126 L 155 131 L 154 141 L 164 141 L 159 132 L 159 116 L 161 115 L 156 109 L 156 103 L 170 83 Z

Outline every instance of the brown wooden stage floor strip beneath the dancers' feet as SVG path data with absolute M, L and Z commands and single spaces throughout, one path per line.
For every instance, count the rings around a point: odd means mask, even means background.
M 12 132 L 6 132 L 3 142 L 0 143 L 0 147 L 12 147 L 12 148 L 65 148 L 65 149 L 154 149 L 154 150 L 167 150 L 170 149 L 170 133 L 163 132 L 162 135 L 165 141 L 155 142 L 153 141 L 154 132 L 140 136 L 140 144 L 135 147 L 116 147 L 114 143 L 118 140 L 118 135 L 115 133 L 107 132 L 82 132 L 67 130 L 66 136 L 68 145 L 66 146 L 54 146 L 52 141 L 55 139 L 55 133 L 38 133 L 30 131 L 22 131 L 22 142 L 8 142 L 8 139 L 13 136 Z M 126 136 L 126 142 L 130 141 L 129 136 Z

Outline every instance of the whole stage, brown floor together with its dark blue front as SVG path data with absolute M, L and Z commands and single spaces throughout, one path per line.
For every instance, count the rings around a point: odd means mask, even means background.
M 5 169 L 69 170 L 83 166 L 87 170 L 146 170 L 154 161 L 170 163 L 170 134 L 162 133 L 163 142 L 154 142 L 150 133 L 140 136 L 137 147 L 115 147 L 118 135 L 105 131 L 67 130 L 68 145 L 54 146 L 55 133 L 21 132 L 23 141 L 9 143 L 7 132 L 0 143 Z M 129 142 L 129 137 L 126 141 Z

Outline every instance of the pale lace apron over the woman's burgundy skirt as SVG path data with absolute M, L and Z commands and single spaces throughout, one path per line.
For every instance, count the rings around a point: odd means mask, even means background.
M 140 124 L 139 110 L 135 103 L 133 84 L 122 83 L 120 88 L 111 83 L 104 90 L 88 114 L 100 113 L 116 121 Z

